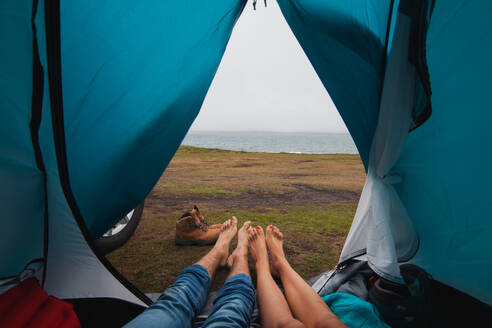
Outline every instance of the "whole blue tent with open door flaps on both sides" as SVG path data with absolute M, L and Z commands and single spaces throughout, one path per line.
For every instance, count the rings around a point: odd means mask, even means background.
M 278 0 L 367 182 L 341 263 L 400 263 L 492 305 L 486 0 Z M 245 1 L 0 3 L 0 281 L 145 306 L 94 246 L 197 116 Z M 1 290 L 0 290 L 1 292 Z

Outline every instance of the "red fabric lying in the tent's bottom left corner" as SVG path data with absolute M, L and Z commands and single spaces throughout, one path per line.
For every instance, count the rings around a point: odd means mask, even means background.
M 34 278 L 0 295 L 0 327 L 79 328 L 73 305 L 48 296 Z

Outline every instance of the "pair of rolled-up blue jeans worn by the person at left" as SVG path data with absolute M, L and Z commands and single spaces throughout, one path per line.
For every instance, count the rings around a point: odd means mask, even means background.
M 157 301 L 125 327 L 191 327 L 210 290 L 210 277 L 199 264 L 184 269 Z M 226 280 L 214 298 L 203 327 L 249 327 L 255 302 L 251 279 L 237 274 Z

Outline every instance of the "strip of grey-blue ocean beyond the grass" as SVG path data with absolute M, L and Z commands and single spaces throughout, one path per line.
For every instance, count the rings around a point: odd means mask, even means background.
M 349 134 L 315 132 L 189 132 L 183 145 L 265 153 L 357 154 Z

